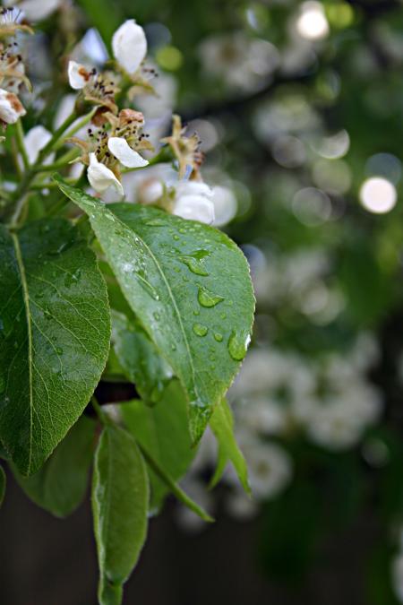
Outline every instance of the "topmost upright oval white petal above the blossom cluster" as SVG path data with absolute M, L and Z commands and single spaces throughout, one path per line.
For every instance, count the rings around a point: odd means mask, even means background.
M 116 61 L 127 73 L 134 73 L 147 53 L 144 30 L 134 19 L 129 19 L 114 33 L 112 48 Z

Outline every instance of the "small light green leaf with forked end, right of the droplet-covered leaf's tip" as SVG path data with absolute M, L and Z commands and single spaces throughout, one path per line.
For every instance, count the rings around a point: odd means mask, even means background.
M 217 468 L 210 481 L 210 487 L 214 487 L 222 477 L 227 462 L 233 463 L 236 474 L 241 481 L 245 492 L 251 494 L 248 481 L 248 469 L 234 435 L 234 419 L 231 409 L 225 399 L 219 402 L 210 419 L 210 427 L 219 443 L 219 454 Z

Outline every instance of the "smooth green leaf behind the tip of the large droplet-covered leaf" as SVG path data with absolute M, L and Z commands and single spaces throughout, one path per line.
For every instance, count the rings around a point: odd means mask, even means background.
M 177 380 L 167 386 L 160 402 L 150 408 L 141 401 L 122 403 L 119 407 L 124 424 L 166 471 L 172 480 L 184 476 L 193 461 L 184 391 Z M 150 471 L 150 510 L 158 509 L 168 488 Z

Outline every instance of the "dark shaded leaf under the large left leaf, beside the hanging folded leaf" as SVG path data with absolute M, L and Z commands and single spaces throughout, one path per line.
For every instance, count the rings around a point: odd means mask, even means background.
M 15 479 L 38 506 L 65 517 L 81 504 L 88 485 L 96 424 L 81 416 L 42 468 L 30 477 L 16 470 Z

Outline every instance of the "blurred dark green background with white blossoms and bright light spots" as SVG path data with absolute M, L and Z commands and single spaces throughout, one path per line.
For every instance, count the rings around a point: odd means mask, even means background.
M 136 107 L 154 141 L 173 112 L 200 135 L 216 224 L 243 248 L 257 298 L 229 393 L 253 500 L 230 469 L 207 491 L 207 434 L 184 488 L 217 523 L 168 502 L 124 603 L 402 603 L 403 5 L 78 4 L 44 22 L 32 80 L 46 91 L 60 71 L 55 22 L 93 63 L 125 18 L 140 22 L 160 96 Z M 133 181 L 133 199 L 149 185 Z M 57 521 L 10 478 L 2 605 L 95 605 L 90 524 L 88 504 Z

